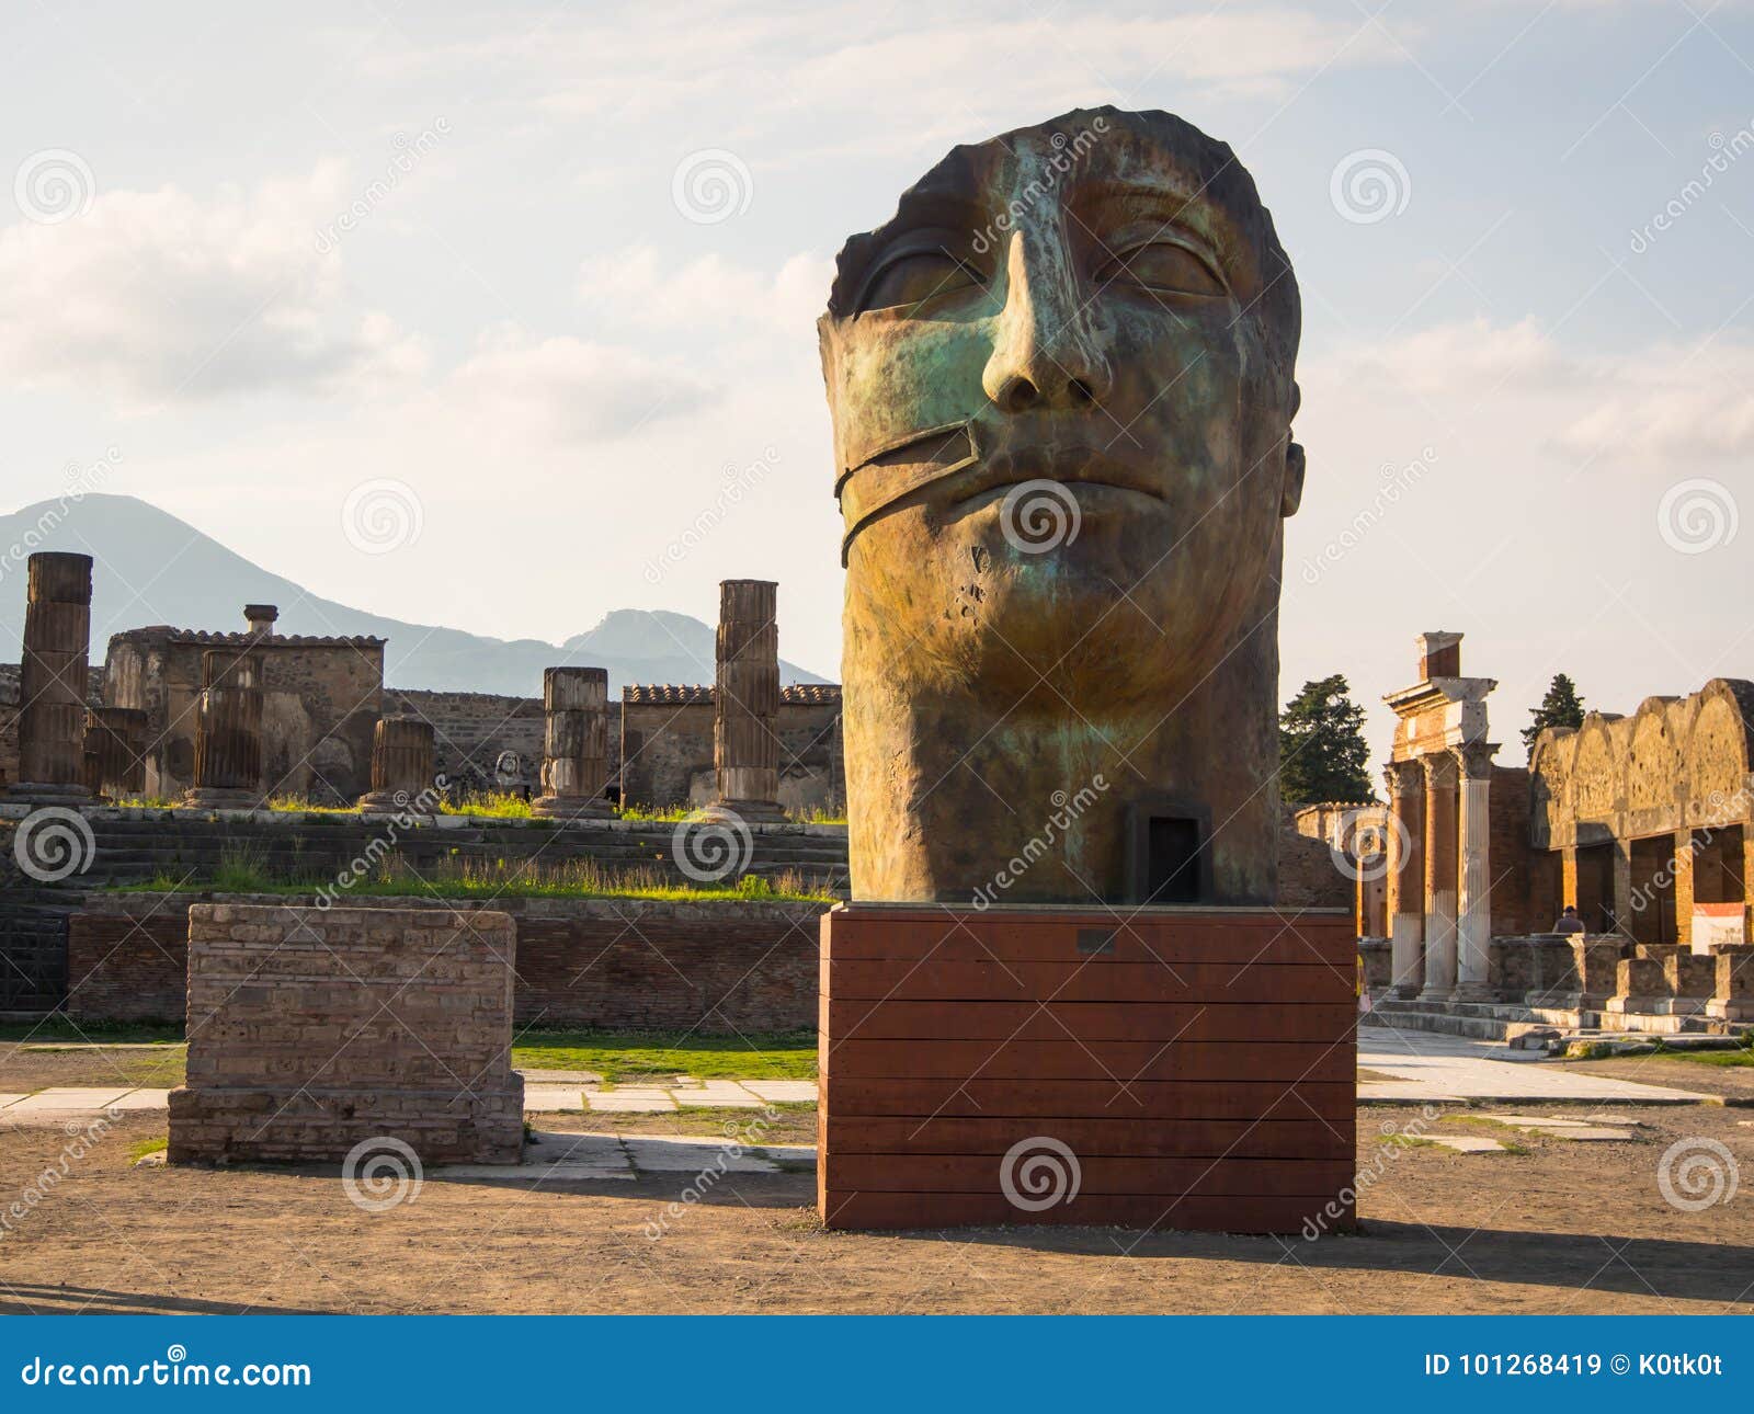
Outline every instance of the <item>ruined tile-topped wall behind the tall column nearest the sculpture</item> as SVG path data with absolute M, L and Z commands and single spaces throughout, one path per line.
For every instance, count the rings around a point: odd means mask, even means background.
M 817 682 L 782 689 L 779 740 L 781 805 L 789 814 L 842 809 L 847 775 L 840 688 Z M 621 689 L 621 782 L 623 800 L 630 803 L 712 803 L 712 688 Z

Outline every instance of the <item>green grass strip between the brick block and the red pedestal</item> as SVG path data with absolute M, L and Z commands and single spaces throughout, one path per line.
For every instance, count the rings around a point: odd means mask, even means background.
M 814 1081 L 816 1032 L 747 1037 L 665 1032 L 524 1032 L 512 1042 L 514 1070 L 591 1070 L 610 1084 L 695 1075 L 730 1081 Z

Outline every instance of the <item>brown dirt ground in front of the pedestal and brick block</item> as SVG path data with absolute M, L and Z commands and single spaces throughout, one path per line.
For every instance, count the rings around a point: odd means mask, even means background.
M 1721 1089 L 1707 1084 L 1721 1072 L 1686 1072 L 1693 1088 Z M 61 1072 L 54 1082 L 74 1081 Z M 1579 1107 L 1528 1112 L 1579 1118 Z M 1754 1310 L 1754 1126 L 1740 1123 L 1754 1109 L 1614 1107 L 1642 1121 L 1631 1144 L 1524 1135 L 1482 1125 L 1479 1110 L 1442 1110 L 1428 1133 L 1493 1133 L 1522 1149 L 1479 1156 L 1386 1135 L 1417 1114 L 1359 1112 L 1363 1232 L 1319 1240 L 828 1233 L 809 1174 L 721 1177 L 656 1239 L 647 1225 L 691 1175 L 530 1189 L 437 1170 L 416 1198 L 372 1214 L 347 1200 L 335 1168 L 133 1167 L 130 1149 L 161 1137 L 165 1121 L 130 1114 L 0 1237 L 0 1310 Z M 554 1128 L 602 1130 L 605 1119 Z M 616 1128 L 719 1133 L 716 1119 L 626 1121 Z M 798 1130 L 807 1123 L 796 1116 Z M 1679 1139 L 1726 1146 L 1747 1174 L 1743 1191 L 1701 1212 L 1665 1202 L 1658 1165 Z M 61 1128 L 0 1128 L 0 1214 L 58 1168 L 67 1144 Z

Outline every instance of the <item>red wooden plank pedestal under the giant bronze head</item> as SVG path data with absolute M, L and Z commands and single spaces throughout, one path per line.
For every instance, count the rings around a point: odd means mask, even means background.
M 837 907 L 823 1221 L 1347 1228 L 1354 988 L 1342 911 Z

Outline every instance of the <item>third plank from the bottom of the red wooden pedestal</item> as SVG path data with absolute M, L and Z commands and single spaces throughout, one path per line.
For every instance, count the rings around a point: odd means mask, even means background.
M 1356 1149 L 1351 1121 L 1323 1119 L 1184 1119 L 1140 1125 L 1133 1119 L 1056 1119 L 1054 1139 L 1075 1154 L 1140 1158 L 1326 1158 L 1347 1160 Z M 1035 1119 L 863 1118 L 823 1121 L 835 1154 L 1003 1154 L 1042 1133 Z

